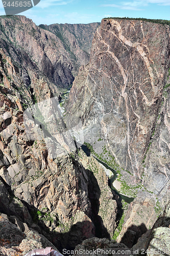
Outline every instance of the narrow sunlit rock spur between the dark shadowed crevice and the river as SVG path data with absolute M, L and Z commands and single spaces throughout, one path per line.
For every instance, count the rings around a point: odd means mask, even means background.
M 116 228 L 117 204 L 108 186 L 108 176 L 100 163 L 91 156 L 87 157 L 82 150 L 79 151 L 79 162 L 86 170 L 90 170 L 88 198 L 93 212 L 92 220 L 96 227 L 95 236 L 112 238 Z

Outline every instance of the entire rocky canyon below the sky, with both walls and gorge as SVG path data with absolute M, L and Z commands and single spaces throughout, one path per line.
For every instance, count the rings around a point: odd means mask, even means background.
M 0 33 L 0 255 L 168 250 L 169 26 L 15 15 Z

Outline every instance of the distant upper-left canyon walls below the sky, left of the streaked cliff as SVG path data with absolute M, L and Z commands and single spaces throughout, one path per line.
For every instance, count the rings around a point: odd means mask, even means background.
M 28 69 L 34 68 L 37 70 L 36 73 L 48 77 L 58 87 L 69 87 L 80 65 L 89 60 L 89 54 L 84 51 L 87 40 L 83 40 L 82 36 L 82 40 L 78 43 L 77 30 L 71 33 L 69 26 L 56 25 L 60 29 L 60 32 L 56 33 L 56 30 L 53 32 L 55 26 L 52 26 L 52 32 L 50 32 L 36 26 L 31 19 L 21 15 L 1 16 L 0 23 L 0 47 L 7 50 L 18 67 L 22 67 L 22 78 L 28 84 L 31 79 Z M 88 31 L 88 47 L 98 26 L 98 23 L 90 24 L 87 28 L 86 25 L 78 26 L 82 34 Z M 63 34 L 61 30 L 64 30 Z M 78 57 L 79 60 L 77 60 Z

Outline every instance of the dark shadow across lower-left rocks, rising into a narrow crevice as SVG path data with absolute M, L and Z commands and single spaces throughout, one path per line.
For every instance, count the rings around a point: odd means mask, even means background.
M 24 200 L 20 200 L 15 197 L 11 187 L 2 179 L 2 188 L 0 187 L 1 194 L 7 194 L 7 200 L 0 197 L 1 212 L 8 216 L 8 220 L 16 225 L 22 232 L 25 232 L 25 226 L 23 223 L 27 223 L 29 229 L 34 229 L 42 234 L 46 239 L 52 242 L 61 252 L 62 249 L 74 249 L 82 241 L 92 238 L 110 238 L 110 235 L 103 224 L 102 218 L 98 215 L 100 207 L 101 190 L 98 181 L 94 177 L 93 173 L 86 169 L 88 176 L 88 198 L 91 204 L 91 210 L 89 209 L 85 215 L 86 219 L 81 215 L 78 215 L 78 219 L 74 220 L 75 216 L 72 216 L 71 223 L 62 224 L 56 216 L 55 225 L 46 225 L 44 218 L 46 215 L 40 211 L 34 205 L 27 203 Z M 2 200 L 1 200 L 2 199 Z M 81 205 L 80 205 L 81 207 Z M 79 211 L 79 210 L 78 210 Z M 40 218 L 39 218 L 40 217 Z M 82 221 L 81 221 L 82 220 Z M 51 220 L 48 220 L 48 222 Z M 76 222 L 77 221 L 77 222 Z M 53 222 L 54 224 L 54 222 Z M 53 226 L 53 230 L 52 227 Z M 61 232 L 56 231 L 56 227 L 61 227 Z

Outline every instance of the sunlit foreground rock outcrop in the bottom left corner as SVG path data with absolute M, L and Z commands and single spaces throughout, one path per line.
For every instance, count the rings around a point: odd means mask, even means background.
M 26 223 L 15 220 L 16 224 L 8 220 L 7 215 L 0 215 L 0 255 L 23 256 L 27 252 L 44 247 L 57 248 L 37 231 L 30 229 Z M 3 227 L 3 228 L 2 228 Z

